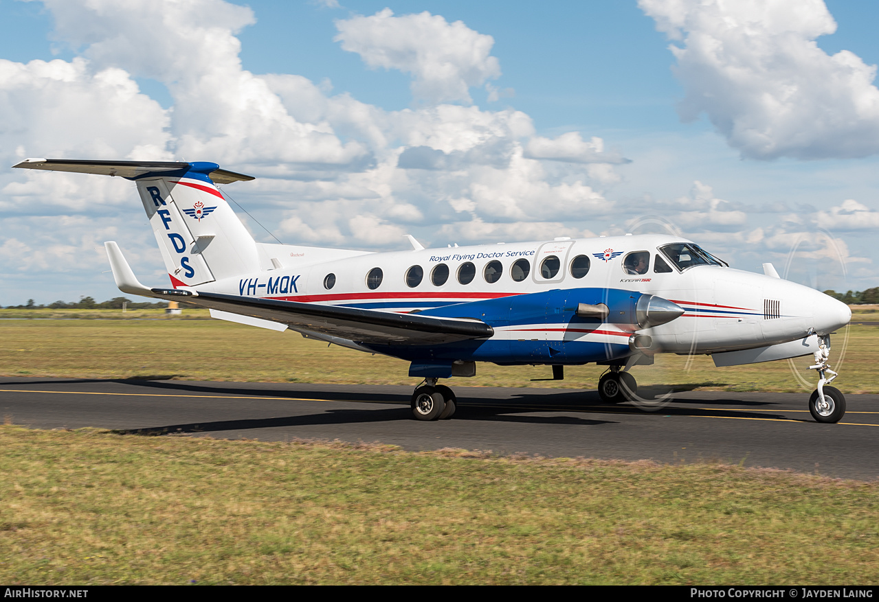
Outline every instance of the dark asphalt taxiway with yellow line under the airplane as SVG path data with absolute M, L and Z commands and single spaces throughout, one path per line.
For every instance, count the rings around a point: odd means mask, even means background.
M 811 419 L 806 391 L 687 391 L 644 411 L 632 404 L 604 405 L 595 391 L 447 384 L 458 397 L 458 410 L 453 419 L 438 422 L 411 419 L 412 388 L 403 386 L 12 377 L 0 377 L 0 414 L 6 422 L 33 428 L 98 426 L 222 439 L 379 441 L 410 450 L 721 461 L 879 478 L 879 395 L 847 395 L 846 416 L 826 425 Z

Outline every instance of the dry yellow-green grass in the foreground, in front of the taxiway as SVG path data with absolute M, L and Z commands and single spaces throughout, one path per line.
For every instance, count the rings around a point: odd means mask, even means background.
M 0 426 L 5 584 L 869 584 L 879 484 Z

